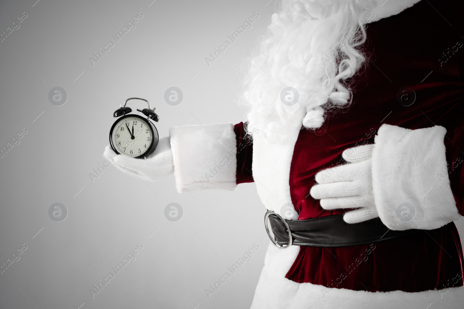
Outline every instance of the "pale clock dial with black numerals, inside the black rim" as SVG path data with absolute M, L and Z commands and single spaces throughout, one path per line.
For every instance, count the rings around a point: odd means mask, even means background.
M 134 139 L 132 139 L 132 127 L 134 127 Z M 113 134 L 113 144 L 116 149 L 129 157 L 137 157 L 145 153 L 152 140 L 153 136 L 148 124 L 138 118 L 122 119 L 116 125 Z

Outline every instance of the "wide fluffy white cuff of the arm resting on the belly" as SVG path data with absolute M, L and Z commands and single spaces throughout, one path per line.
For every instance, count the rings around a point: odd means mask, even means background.
M 374 199 L 380 219 L 392 230 L 430 230 L 461 217 L 449 178 L 440 177 L 447 171 L 445 133 L 443 126 L 416 130 L 380 126 L 372 151 Z M 397 215 L 402 203 L 415 209 L 411 221 Z

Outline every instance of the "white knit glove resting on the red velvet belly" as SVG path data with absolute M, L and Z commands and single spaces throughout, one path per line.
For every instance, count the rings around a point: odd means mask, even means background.
M 316 174 L 316 182 L 310 194 L 321 200 L 321 207 L 327 210 L 358 208 L 343 216 L 347 223 L 358 223 L 379 216 L 375 208 L 372 189 L 371 154 L 374 145 L 349 148 L 342 158 L 349 162 Z

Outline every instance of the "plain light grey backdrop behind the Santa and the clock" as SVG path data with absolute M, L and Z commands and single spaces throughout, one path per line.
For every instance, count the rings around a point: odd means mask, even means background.
M 242 121 L 240 67 L 274 9 L 267 0 L 1 1 L 0 32 L 27 18 L 0 42 L 0 148 L 27 133 L 0 158 L 0 263 L 27 249 L 0 274 L 0 308 L 250 306 L 269 243 L 253 183 L 192 195 L 176 192 L 173 175 L 142 182 L 114 166 L 93 182 L 89 174 L 105 161 L 112 113 L 131 96 L 157 108 L 160 137 L 171 126 Z M 136 28 L 92 66 L 89 57 L 137 12 Z M 253 12 L 252 28 L 208 66 L 205 57 Z M 184 94 L 179 106 L 163 98 L 173 86 Z M 62 106 L 48 101 L 54 87 L 68 94 Z M 48 215 L 56 202 L 64 221 Z M 184 210 L 180 221 L 164 216 L 171 202 Z M 89 289 L 139 243 L 136 259 L 92 298 Z M 209 284 L 254 243 L 252 259 L 208 298 Z

